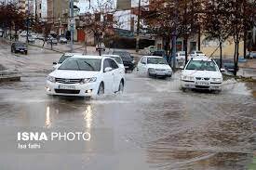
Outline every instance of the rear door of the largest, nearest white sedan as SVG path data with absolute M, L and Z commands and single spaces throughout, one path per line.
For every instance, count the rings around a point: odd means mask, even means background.
M 123 71 L 116 63 L 115 59 L 110 59 L 110 64 L 114 72 L 113 91 L 116 92 L 119 89 L 119 84 L 123 77 Z

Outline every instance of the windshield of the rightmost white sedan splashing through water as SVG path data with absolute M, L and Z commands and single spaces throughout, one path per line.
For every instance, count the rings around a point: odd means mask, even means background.
M 217 68 L 213 61 L 208 60 L 191 60 L 186 70 L 195 70 L 195 71 L 213 71 L 216 72 Z

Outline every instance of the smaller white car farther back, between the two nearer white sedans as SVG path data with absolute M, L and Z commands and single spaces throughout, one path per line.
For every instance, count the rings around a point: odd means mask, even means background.
M 158 56 L 144 56 L 138 63 L 137 72 L 141 75 L 171 77 L 172 70 L 166 59 Z

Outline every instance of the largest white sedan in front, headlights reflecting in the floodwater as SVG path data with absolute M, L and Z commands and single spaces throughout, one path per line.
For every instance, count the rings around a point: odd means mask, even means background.
M 124 90 L 123 70 L 115 59 L 74 55 L 47 76 L 47 94 L 93 97 Z

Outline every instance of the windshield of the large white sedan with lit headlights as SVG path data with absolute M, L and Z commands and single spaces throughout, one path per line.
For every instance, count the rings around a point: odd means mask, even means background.
M 101 59 L 69 58 L 61 64 L 59 70 L 100 72 Z

